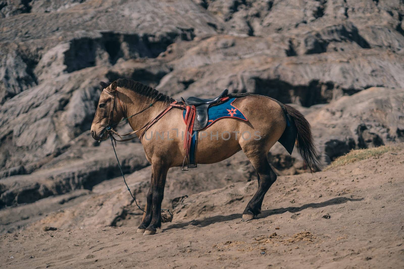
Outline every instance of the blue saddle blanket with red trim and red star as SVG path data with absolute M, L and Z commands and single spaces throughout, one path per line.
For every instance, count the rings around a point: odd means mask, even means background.
M 208 108 L 209 117 L 208 117 L 208 124 L 206 125 L 206 127 L 208 127 L 215 121 L 223 118 L 235 118 L 235 119 L 242 119 L 243 121 L 248 121 L 248 119 L 244 116 L 244 114 L 241 111 L 239 111 L 236 106 L 233 105 L 233 102 L 236 99 L 237 98 L 229 98 L 229 100 L 226 100 L 221 104 L 210 106 Z M 183 112 L 184 121 L 185 121 L 185 113 L 186 111 L 184 110 Z M 197 142 L 198 142 L 198 131 L 193 131 L 191 136 L 191 148 L 189 152 L 189 165 L 191 165 L 190 168 L 196 167 L 195 152 Z

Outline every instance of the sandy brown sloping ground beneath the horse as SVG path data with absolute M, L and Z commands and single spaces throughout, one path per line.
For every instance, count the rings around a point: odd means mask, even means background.
M 399 144 L 330 171 L 278 177 L 261 217 L 248 222 L 241 213 L 256 181 L 186 198 L 154 236 L 32 225 L 1 235 L 0 267 L 404 268 L 403 175 Z

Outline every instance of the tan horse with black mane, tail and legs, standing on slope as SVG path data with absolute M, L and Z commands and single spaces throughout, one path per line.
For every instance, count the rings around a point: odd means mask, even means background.
M 102 92 L 90 129 L 91 136 L 95 140 L 107 139 L 112 128 L 125 118 L 134 130 L 132 133 L 139 137 L 152 172 L 145 213 L 137 232 L 153 235 L 161 227 L 161 203 L 168 169 L 183 166 L 186 157 L 184 138 L 178 135 L 185 128 L 183 109 L 168 109 L 176 102 L 173 98 L 131 79 L 118 79 L 110 84 L 101 81 L 100 85 Z M 276 173 L 271 169 L 267 156 L 286 129 L 284 109 L 297 129 L 292 143 L 296 144 L 303 161 L 311 172 L 318 169 L 319 163 L 311 127 L 295 108 L 253 94 L 237 98 L 234 105 L 248 121 L 223 118 L 206 127 L 204 131 L 210 134 L 225 131 L 226 139 L 216 139 L 216 135 L 213 139 L 199 137 L 195 159 L 199 164 L 211 164 L 223 161 L 240 150 L 244 152 L 258 175 L 257 192 L 242 215 L 242 221 L 249 221 L 261 213 L 264 196 L 276 181 Z M 162 111 L 165 113 L 162 114 Z M 250 137 L 241 133 L 248 133 Z M 257 133 L 259 139 L 252 135 Z

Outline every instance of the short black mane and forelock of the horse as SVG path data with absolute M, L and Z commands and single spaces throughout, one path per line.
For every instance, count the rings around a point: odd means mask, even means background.
M 118 83 L 118 87 L 121 88 L 126 88 L 128 90 L 132 90 L 140 95 L 150 97 L 156 101 L 162 101 L 162 102 L 174 102 L 174 99 L 162 94 L 161 92 L 158 92 L 158 90 L 155 90 L 147 85 L 144 85 L 138 81 L 134 81 L 132 79 L 118 79 L 116 81 Z M 109 83 L 110 84 L 110 83 Z M 107 88 L 109 86 L 108 83 L 105 83 L 103 81 L 100 82 L 101 88 Z

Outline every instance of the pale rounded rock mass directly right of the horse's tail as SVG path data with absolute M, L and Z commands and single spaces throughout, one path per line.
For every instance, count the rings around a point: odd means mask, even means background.
M 373 87 L 309 113 L 324 164 L 351 149 L 402 142 L 404 89 Z

